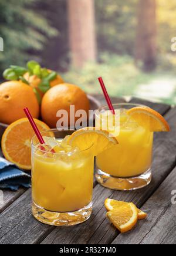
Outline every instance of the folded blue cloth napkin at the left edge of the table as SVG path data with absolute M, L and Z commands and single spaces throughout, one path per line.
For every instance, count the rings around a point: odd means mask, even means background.
M 0 149 L 0 188 L 16 191 L 21 186 L 31 187 L 31 176 L 4 159 Z

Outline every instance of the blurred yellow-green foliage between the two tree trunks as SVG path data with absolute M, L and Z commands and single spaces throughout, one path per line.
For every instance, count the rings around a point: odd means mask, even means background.
M 138 0 L 99 0 L 96 6 L 97 40 L 100 51 L 133 55 Z

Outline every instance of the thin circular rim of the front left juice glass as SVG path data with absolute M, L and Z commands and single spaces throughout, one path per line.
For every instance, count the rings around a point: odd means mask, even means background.
M 70 130 L 50 129 L 50 130 L 42 131 L 42 132 L 40 132 L 40 133 L 43 134 L 43 133 L 47 133 L 47 132 L 68 132 L 68 131 L 76 132 L 75 129 L 70 129 Z M 35 138 L 37 138 L 36 135 L 34 135 L 34 136 L 32 137 L 32 139 L 31 139 L 32 148 L 34 148 L 34 149 L 36 149 L 36 150 L 39 150 L 40 152 L 45 152 L 45 153 L 46 153 L 46 151 L 44 151 L 44 150 L 42 150 L 42 149 L 38 149 L 38 147 L 36 147 L 36 146 L 33 144 L 33 140 L 34 140 Z M 63 139 L 64 139 L 64 138 L 63 138 Z M 40 144 L 40 143 L 38 143 L 38 144 Z M 93 145 L 94 145 L 94 144 L 92 144 L 90 147 L 87 147 L 87 149 L 79 150 L 79 151 L 74 152 L 74 153 L 71 152 L 71 153 L 69 153 L 69 154 L 70 154 L 70 155 L 74 155 L 74 154 L 83 153 L 83 152 L 88 151 L 89 149 L 91 149 L 91 148 L 93 147 Z M 60 152 L 59 152 L 59 153 L 50 152 L 50 154 L 53 154 L 53 155 L 56 156 L 56 155 L 66 155 L 66 154 L 68 154 L 68 153 L 66 153 L 66 152 L 62 152 L 62 153 L 60 153 Z

